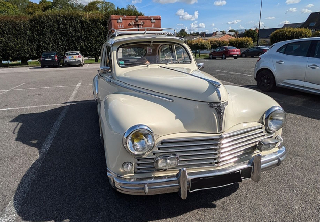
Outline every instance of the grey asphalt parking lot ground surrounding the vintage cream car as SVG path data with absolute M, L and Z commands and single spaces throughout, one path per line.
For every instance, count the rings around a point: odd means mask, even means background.
M 257 90 L 257 58 L 199 60 L 225 84 Z M 98 65 L 0 69 L 0 221 L 319 221 L 320 96 L 268 93 L 287 112 L 288 156 L 243 181 L 129 196 L 109 186 L 92 78 Z M 257 101 L 257 105 L 259 105 Z

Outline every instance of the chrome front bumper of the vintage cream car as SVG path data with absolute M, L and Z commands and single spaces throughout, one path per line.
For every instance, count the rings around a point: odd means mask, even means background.
M 179 173 L 175 176 L 168 177 L 152 177 L 143 179 L 125 179 L 115 175 L 108 170 L 108 177 L 111 185 L 119 192 L 131 195 L 155 195 L 162 193 L 179 192 L 182 199 L 187 198 L 187 193 L 201 190 L 193 189 L 192 184 L 195 179 L 210 179 L 212 178 L 218 182 L 214 186 L 208 185 L 206 188 L 214 188 L 226 186 L 235 182 L 228 182 L 228 177 L 238 173 L 241 179 L 251 178 L 253 181 L 258 182 L 260 180 L 261 171 L 269 168 L 279 166 L 286 157 L 286 148 L 283 146 L 277 152 L 261 156 L 256 155 L 247 163 L 241 163 L 233 165 L 231 167 L 188 173 L 185 168 L 179 170 Z M 224 181 L 219 184 L 221 177 L 224 177 Z M 225 180 L 226 179 L 226 180 Z M 240 179 L 240 181 L 241 181 Z M 236 182 L 240 182 L 236 181 Z M 202 188 L 202 189 L 206 189 Z

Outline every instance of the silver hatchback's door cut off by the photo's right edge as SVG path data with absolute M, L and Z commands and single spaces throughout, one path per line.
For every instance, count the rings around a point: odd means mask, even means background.
M 320 41 L 313 41 L 310 48 L 312 52 L 307 62 L 305 86 L 320 90 Z

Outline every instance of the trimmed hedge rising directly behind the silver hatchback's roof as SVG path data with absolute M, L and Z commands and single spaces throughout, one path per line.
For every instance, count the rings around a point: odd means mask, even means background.
M 312 36 L 310 29 L 305 28 L 284 28 L 274 31 L 270 35 L 271 44 L 290 39 L 308 38 Z

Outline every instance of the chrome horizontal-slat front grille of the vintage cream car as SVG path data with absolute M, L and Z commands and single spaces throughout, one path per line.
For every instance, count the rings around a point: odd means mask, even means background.
M 153 172 L 155 157 L 173 153 L 179 156 L 177 168 L 223 166 L 251 155 L 267 137 L 271 136 L 266 136 L 262 126 L 256 126 L 217 136 L 162 140 L 148 157 L 137 158 L 135 172 Z

